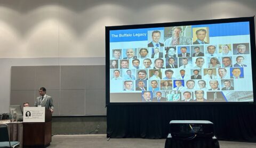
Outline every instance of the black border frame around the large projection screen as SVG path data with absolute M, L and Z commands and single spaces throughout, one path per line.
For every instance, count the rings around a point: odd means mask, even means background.
M 166 104 L 166 105 L 195 105 L 195 104 L 256 104 L 256 84 L 252 83 L 253 86 L 253 102 L 110 102 L 110 43 L 109 43 L 109 32 L 111 30 L 122 30 L 122 29 L 140 29 L 140 28 L 157 28 L 157 27 L 173 27 L 173 26 L 191 26 L 198 24 L 218 24 L 218 23 L 232 23 L 232 22 L 249 22 L 250 28 L 250 46 L 251 46 L 251 59 L 256 57 L 255 50 L 255 27 L 254 27 L 254 17 L 243 17 L 243 18 L 229 18 L 229 19 L 213 19 L 213 20 L 197 20 L 197 21 L 183 21 L 183 22 L 167 22 L 167 23 L 151 23 L 151 24 L 133 24 L 124 26 L 106 26 L 105 27 L 105 45 L 106 45 L 106 106 L 107 105 L 135 105 L 135 104 Z M 256 68 L 253 65 L 256 64 L 255 60 L 251 60 L 252 63 L 252 81 L 255 82 L 255 72 Z

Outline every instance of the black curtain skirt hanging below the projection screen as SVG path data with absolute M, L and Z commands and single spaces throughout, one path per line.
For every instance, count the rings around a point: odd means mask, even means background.
M 166 138 L 171 120 L 209 120 L 220 140 L 256 142 L 255 105 L 108 105 L 110 138 Z

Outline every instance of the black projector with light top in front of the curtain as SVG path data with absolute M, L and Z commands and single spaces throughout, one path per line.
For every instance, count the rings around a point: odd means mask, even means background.
M 214 137 L 213 123 L 205 120 L 172 120 L 170 130 L 171 137 L 174 139 Z

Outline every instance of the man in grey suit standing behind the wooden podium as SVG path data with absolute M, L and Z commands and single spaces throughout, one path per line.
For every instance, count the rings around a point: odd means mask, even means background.
M 51 110 L 53 112 L 53 102 L 52 97 L 46 95 L 46 89 L 44 87 L 39 88 L 39 97 L 36 98 L 35 106 L 42 106 L 46 109 Z

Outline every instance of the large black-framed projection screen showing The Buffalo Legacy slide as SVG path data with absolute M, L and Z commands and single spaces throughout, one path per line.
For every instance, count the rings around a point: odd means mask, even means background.
M 253 18 L 106 27 L 106 102 L 253 102 Z

